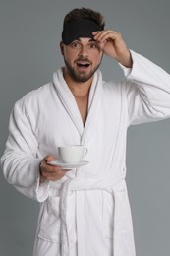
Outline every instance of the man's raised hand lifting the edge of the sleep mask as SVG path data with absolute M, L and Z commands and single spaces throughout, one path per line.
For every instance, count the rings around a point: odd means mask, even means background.
M 92 34 L 104 54 L 116 59 L 123 66 L 132 68 L 133 61 L 131 53 L 120 32 L 106 30 L 92 32 Z

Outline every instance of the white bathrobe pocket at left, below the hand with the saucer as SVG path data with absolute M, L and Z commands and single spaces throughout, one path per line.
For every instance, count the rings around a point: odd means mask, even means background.
M 49 197 L 41 205 L 38 237 L 60 242 L 60 197 Z

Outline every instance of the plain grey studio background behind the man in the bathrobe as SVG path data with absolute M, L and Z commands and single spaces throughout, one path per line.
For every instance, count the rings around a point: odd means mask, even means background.
M 127 45 L 170 72 L 169 0 L 0 0 L 0 155 L 17 99 L 51 81 L 63 65 L 59 51 L 65 14 L 90 7 L 122 32 Z M 105 80 L 122 71 L 111 59 Z M 128 132 L 127 182 L 138 256 L 170 251 L 170 120 L 134 126 Z M 0 255 L 30 256 L 39 206 L 19 194 L 0 172 Z

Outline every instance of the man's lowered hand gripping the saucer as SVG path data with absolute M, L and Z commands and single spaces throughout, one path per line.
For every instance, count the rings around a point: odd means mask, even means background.
M 56 181 L 64 177 L 66 170 L 62 169 L 59 166 L 52 166 L 48 164 L 48 161 L 55 160 L 53 156 L 46 156 L 40 162 L 40 182 L 45 180 Z

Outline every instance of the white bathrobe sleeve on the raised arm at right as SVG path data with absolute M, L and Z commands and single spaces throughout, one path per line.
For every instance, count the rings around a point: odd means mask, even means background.
M 129 124 L 156 121 L 170 116 L 170 75 L 131 51 L 133 68 L 124 68 Z

